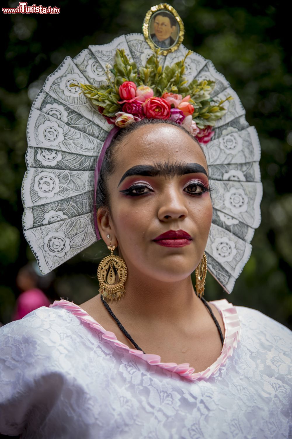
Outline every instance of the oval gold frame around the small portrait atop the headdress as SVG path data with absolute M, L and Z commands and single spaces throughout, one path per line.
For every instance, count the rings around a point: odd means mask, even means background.
M 172 47 L 169 47 L 169 49 L 162 49 L 161 47 L 157 46 L 149 36 L 149 23 L 152 15 L 155 14 L 155 12 L 163 11 L 163 10 L 166 12 L 170 12 L 174 16 L 174 18 L 176 19 L 179 25 L 178 40 L 176 44 L 174 44 L 174 46 Z M 179 17 L 179 14 L 176 12 L 176 10 L 168 3 L 160 3 L 157 4 L 156 6 L 152 6 L 151 9 L 145 15 L 142 29 L 143 29 L 144 38 L 149 44 L 149 46 L 151 47 L 151 49 L 152 50 L 160 49 L 162 55 L 167 55 L 169 52 L 174 52 L 179 48 L 180 44 L 183 42 L 183 36 L 184 36 L 183 20 Z

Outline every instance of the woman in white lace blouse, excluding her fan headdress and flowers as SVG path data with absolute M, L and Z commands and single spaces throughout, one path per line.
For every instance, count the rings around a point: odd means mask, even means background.
M 175 123 L 137 122 L 107 149 L 98 183 L 99 233 L 127 265 L 125 293 L 55 301 L 1 327 L 0 432 L 288 438 L 291 331 L 192 286 L 212 219 L 200 145 Z

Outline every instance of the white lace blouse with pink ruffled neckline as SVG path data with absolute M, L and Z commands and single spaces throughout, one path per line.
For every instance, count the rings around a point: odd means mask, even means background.
M 28 439 L 292 437 L 292 332 L 211 302 L 225 340 L 210 367 L 130 349 L 67 300 L 0 328 L 0 433 Z

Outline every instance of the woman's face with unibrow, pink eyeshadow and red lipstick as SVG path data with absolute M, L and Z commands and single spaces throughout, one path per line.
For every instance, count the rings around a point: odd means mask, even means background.
M 165 282 L 186 278 L 200 263 L 212 219 L 201 148 L 165 124 L 142 126 L 116 148 L 108 182 L 111 230 L 102 231 L 103 239 L 109 245 L 106 234 L 112 244 L 116 238 L 129 272 Z

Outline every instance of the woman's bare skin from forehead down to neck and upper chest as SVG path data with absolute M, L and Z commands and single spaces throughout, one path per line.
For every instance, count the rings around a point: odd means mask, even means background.
M 110 308 L 144 352 L 201 372 L 222 351 L 218 329 L 190 277 L 211 226 L 208 166 L 185 130 L 146 121 L 130 126 L 128 134 L 123 130 L 108 150 L 110 168 L 102 169 L 100 234 L 119 249 L 128 270 L 126 293 Z M 99 296 L 82 307 L 109 331 L 118 329 L 118 339 L 133 348 Z M 224 336 L 222 317 L 211 309 Z

